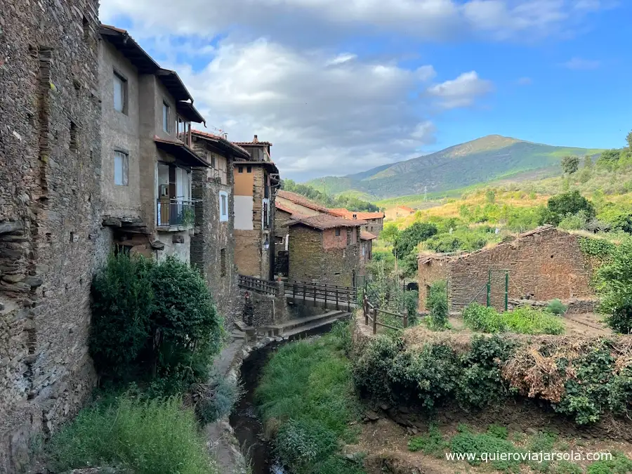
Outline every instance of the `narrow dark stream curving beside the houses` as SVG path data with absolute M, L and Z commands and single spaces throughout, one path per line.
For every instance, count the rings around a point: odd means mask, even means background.
M 272 457 L 272 446 L 263 439 L 263 424 L 257 416 L 254 391 L 261 379 L 263 367 L 270 360 L 270 355 L 282 345 L 296 339 L 323 334 L 330 329 L 331 324 L 327 324 L 312 331 L 297 334 L 288 341 L 270 343 L 252 351 L 242 363 L 244 395 L 230 414 L 230 426 L 235 430 L 235 436 L 247 456 L 246 459 L 251 463 L 252 474 L 289 474 L 287 470 L 275 463 Z

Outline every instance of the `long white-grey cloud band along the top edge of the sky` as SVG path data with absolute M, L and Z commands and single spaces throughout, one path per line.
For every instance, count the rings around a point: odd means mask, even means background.
M 250 38 L 322 44 L 356 32 L 395 32 L 420 39 L 486 34 L 527 39 L 573 32 L 612 0 L 103 0 L 100 14 L 128 16 L 137 30 L 215 36 L 238 29 Z

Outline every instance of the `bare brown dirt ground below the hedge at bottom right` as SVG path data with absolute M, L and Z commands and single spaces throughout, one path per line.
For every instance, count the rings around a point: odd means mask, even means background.
M 454 426 L 439 427 L 444 437 L 456 435 Z M 486 427 L 470 426 L 475 432 L 484 432 Z M 355 445 L 345 447 L 349 454 L 366 454 L 367 473 L 369 474 L 455 474 L 455 473 L 490 473 L 498 472 L 489 464 L 470 466 L 466 461 L 447 461 L 445 457 L 427 455 L 422 452 L 410 452 L 408 441 L 416 436 L 426 433 L 424 429 L 404 428 L 390 419 L 379 418 L 362 424 L 362 432 Z M 509 430 L 509 440 L 522 440 L 515 442 L 517 446 L 524 446 L 528 433 Z M 632 444 L 629 442 L 604 441 L 596 439 L 584 439 L 584 437 L 572 437 L 559 435 L 553 447 L 554 452 L 622 452 L 626 456 L 632 456 Z M 577 463 L 584 472 L 589 462 Z M 536 472 L 558 472 L 555 463 L 551 470 L 534 470 L 531 466 L 521 466 L 520 473 L 531 474 Z M 565 471 L 562 471 L 565 472 Z

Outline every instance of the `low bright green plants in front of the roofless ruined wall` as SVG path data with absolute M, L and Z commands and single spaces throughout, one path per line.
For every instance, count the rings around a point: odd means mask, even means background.
M 560 310 L 561 308 L 555 305 L 553 309 Z M 563 334 L 565 331 L 564 323 L 560 317 L 551 314 L 551 312 L 536 310 L 529 306 L 498 312 L 491 306 L 472 303 L 463 310 L 463 321 L 473 331 L 486 333 Z

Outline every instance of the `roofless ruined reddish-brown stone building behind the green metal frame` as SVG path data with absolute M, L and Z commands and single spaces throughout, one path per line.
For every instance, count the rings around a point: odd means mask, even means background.
M 581 252 L 578 235 L 551 225 L 525 232 L 491 249 L 453 256 L 421 255 L 418 261 L 419 310 L 426 310 L 428 288 L 444 279 L 451 310 L 472 301 L 504 308 L 510 300 L 595 300 L 591 262 Z M 506 277 L 508 275 L 508 277 Z M 506 285 L 508 278 L 508 285 Z

